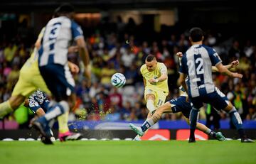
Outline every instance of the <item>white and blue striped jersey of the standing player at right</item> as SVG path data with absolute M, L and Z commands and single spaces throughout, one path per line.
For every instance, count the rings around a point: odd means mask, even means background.
M 213 48 L 206 45 L 192 45 L 181 59 L 179 72 L 188 75 L 188 95 L 203 96 L 215 91 L 212 66 L 218 65 L 220 57 Z

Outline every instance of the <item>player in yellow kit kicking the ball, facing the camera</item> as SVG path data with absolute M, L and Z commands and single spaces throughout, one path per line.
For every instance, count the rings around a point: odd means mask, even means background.
M 144 80 L 144 99 L 146 108 L 149 110 L 149 118 L 156 108 L 164 104 L 169 94 L 167 67 L 164 63 L 157 62 L 154 55 L 148 55 L 140 72 Z M 139 140 L 139 136 L 136 136 L 134 140 Z

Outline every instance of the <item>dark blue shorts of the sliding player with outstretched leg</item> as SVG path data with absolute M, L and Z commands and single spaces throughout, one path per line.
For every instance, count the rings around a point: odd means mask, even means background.
M 186 102 L 186 97 L 178 97 L 177 99 L 171 99 L 169 101 L 174 106 L 171 107 L 173 113 L 182 112 L 186 118 L 189 118 L 190 111 L 192 109 L 191 103 Z

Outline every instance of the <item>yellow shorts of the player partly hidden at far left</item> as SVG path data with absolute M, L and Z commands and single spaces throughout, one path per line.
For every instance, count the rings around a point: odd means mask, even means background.
M 22 67 L 20 75 L 18 77 L 18 82 L 16 83 L 14 90 L 11 96 L 16 96 L 18 94 L 23 95 L 24 97 L 29 97 L 37 89 L 50 94 L 50 90 L 46 86 L 46 82 L 43 81 L 39 69 L 36 67 Z

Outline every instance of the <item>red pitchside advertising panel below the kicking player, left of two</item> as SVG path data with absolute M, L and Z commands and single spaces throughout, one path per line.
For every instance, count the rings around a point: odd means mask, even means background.
M 170 140 L 171 133 L 169 130 L 166 129 L 149 129 L 145 133 L 144 136 L 142 136 L 142 140 L 151 140 L 151 141 L 166 141 Z

